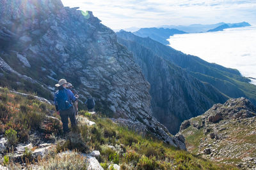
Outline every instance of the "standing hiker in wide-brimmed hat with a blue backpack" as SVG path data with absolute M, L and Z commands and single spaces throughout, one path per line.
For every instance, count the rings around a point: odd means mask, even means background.
M 68 117 L 70 118 L 72 127 L 76 127 L 75 110 L 72 105 L 76 101 L 76 97 L 70 90 L 66 89 L 67 81 L 65 79 L 61 79 L 55 86 L 58 87 L 58 91 L 54 96 L 54 104 L 56 110 L 60 113 L 63 132 L 67 133 Z

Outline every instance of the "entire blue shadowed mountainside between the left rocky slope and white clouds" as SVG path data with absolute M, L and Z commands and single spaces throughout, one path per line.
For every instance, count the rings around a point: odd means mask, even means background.
M 131 32 L 116 34 L 150 82 L 154 116 L 172 133 L 179 131 L 184 120 L 204 113 L 214 103 L 224 103 L 228 97 L 251 97 L 256 103 L 256 86 L 236 69 L 205 62 Z

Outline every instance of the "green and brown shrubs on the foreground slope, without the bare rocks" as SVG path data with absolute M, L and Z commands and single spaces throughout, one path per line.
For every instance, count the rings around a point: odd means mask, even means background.
M 122 169 L 232 169 L 230 166 L 214 164 L 189 152 L 177 150 L 152 138 L 150 134 L 138 134 L 113 123 L 109 118 L 90 115 L 86 111 L 80 111 L 79 117 L 88 117 L 96 125 L 89 127 L 79 124 L 70 134 L 62 136 L 59 124 L 51 122 L 47 127 L 42 128 L 47 115 L 58 117 L 52 105 L 42 103 L 32 96 L 24 97 L 10 93 L 6 88 L 1 89 L 0 92 L 0 108 L 1 134 L 8 139 L 15 138 L 15 143 L 9 143 L 9 148 L 17 143 L 26 143 L 33 134 L 30 131 L 40 132 L 45 141 L 49 141 L 49 135 L 52 134 L 55 138 L 62 139 L 61 142 L 55 140 L 56 148 L 44 159 L 30 160 L 30 163 L 28 160 L 26 167 L 31 169 L 35 166 L 56 169 L 60 166 L 56 164 L 58 161 L 65 162 L 67 167 L 71 166 L 73 169 L 78 167 L 84 169 L 86 163 L 77 153 L 92 150 L 100 151 L 98 160 L 104 169 L 110 164 L 119 164 Z M 8 134 L 12 135 L 8 136 Z M 73 150 L 73 152 L 68 154 L 70 156 L 60 157 L 60 153 L 65 150 Z M 6 150 L 4 154 L 8 155 L 8 151 Z M 71 155 L 79 161 L 72 159 Z M 7 160 L 7 157 L 2 164 L 9 166 L 10 169 L 22 167 L 19 162 Z

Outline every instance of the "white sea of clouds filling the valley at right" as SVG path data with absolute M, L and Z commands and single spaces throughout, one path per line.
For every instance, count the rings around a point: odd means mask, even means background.
M 175 34 L 168 41 L 176 50 L 196 55 L 207 62 L 238 69 L 243 76 L 256 78 L 256 26 Z M 256 85 L 256 80 L 251 80 Z

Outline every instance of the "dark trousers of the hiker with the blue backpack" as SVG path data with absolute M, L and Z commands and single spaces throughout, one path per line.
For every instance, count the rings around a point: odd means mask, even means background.
M 61 122 L 63 124 L 63 132 L 68 132 L 68 117 L 70 118 L 70 122 L 72 127 L 76 126 L 76 111 L 74 106 L 68 108 L 68 110 L 60 111 Z

